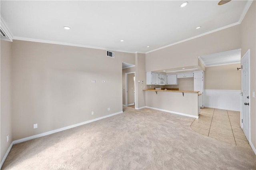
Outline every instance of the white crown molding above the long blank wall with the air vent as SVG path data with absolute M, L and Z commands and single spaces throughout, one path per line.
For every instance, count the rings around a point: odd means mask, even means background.
M 85 48 L 93 48 L 93 49 L 102 49 L 102 50 L 109 50 L 109 51 L 118 51 L 118 52 L 124 52 L 124 53 L 134 53 L 132 51 L 122 51 L 118 49 L 107 49 L 102 47 L 95 47 L 90 45 L 82 45 L 82 44 L 76 44 L 76 43 L 65 43 L 65 42 L 55 42 L 55 41 L 49 41 L 49 40 L 40 40 L 40 39 L 33 39 L 33 38 L 24 38 L 24 37 L 13 37 L 13 40 L 22 40 L 22 41 L 29 41 L 29 42 L 39 42 L 39 43 L 51 43 L 51 44 L 58 44 L 58 45 L 69 45 L 69 46 L 75 46 L 75 47 L 85 47 Z

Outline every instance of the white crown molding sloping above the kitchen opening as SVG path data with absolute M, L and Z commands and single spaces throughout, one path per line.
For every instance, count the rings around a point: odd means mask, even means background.
M 178 43 L 182 43 L 182 42 L 186 42 L 186 41 L 189 41 L 189 40 L 193 40 L 193 39 L 195 39 L 195 38 L 202 37 L 202 36 L 205 36 L 205 35 L 208 35 L 208 34 L 211 34 L 211 33 L 217 32 L 217 31 L 220 31 L 220 30 L 224 30 L 224 29 L 226 29 L 226 28 L 230 28 L 230 27 L 236 26 L 236 25 L 238 25 L 238 24 L 240 24 L 240 22 L 235 22 L 235 23 L 233 23 L 233 24 L 230 24 L 230 25 L 227 25 L 227 26 L 224 26 L 224 27 L 221 27 L 221 28 L 217 28 L 217 29 L 215 29 L 215 30 L 206 32 L 206 33 L 204 33 L 204 34 L 200 34 L 200 35 L 198 35 L 198 36 L 194 36 L 194 37 L 191 37 L 191 38 L 187 38 L 187 39 L 181 40 L 181 41 L 179 41 L 179 42 L 171 43 L 171 44 L 169 44 L 169 45 L 165 45 L 165 46 L 163 46 L 163 47 L 159 47 L 159 48 L 157 48 L 157 49 L 153 49 L 153 50 L 151 50 L 151 51 L 147 51 L 146 54 L 147 54 L 147 53 L 151 53 L 151 52 L 153 52 L 153 51 L 157 51 L 157 50 L 159 50 L 159 49 L 163 49 L 163 48 L 166 48 L 166 47 L 170 47 L 170 46 L 172 46 L 172 45 L 176 45 L 176 44 L 178 44 Z

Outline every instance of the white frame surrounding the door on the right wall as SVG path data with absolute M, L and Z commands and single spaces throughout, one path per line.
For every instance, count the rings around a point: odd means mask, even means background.
M 244 56 L 241 58 L 241 65 L 243 65 L 243 63 L 242 63 L 242 59 L 246 56 L 246 55 L 248 55 L 248 94 L 249 94 L 249 104 L 251 104 L 251 91 L 250 91 L 250 49 L 248 49 L 247 51 L 246 51 L 246 53 L 244 54 Z M 241 84 L 241 91 L 243 90 L 243 68 L 241 69 L 241 82 L 242 82 L 242 84 Z M 243 92 L 243 91 L 242 91 Z M 242 95 L 244 95 L 244 94 L 242 94 Z M 244 105 L 244 103 L 243 103 L 243 96 L 241 96 L 242 97 L 242 103 L 241 103 L 241 105 L 243 106 Z M 251 107 L 250 107 L 250 105 L 249 105 L 249 115 L 248 115 L 248 117 L 249 117 L 249 139 L 248 139 L 248 141 L 249 141 L 249 143 L 250 143 L 250 141 L 251 141 L 251 116 L 250 116 L 250 113 L 251 113 Z M 244 115 L 243 115 L 244 113 L 243 113 L 243 107 L 241 107 L 241 116 L 240 116 L 240 126 L 241 126 L 241 128 L 243 129 L 243 123 L 242 123 L 242 119 L 243 119 L 243 117 L 244 117 Z

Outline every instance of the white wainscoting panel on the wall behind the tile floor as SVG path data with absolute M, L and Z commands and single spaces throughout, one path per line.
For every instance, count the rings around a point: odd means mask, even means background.
M 240 90 L 204 90 L 204 106 L 240 111 Z

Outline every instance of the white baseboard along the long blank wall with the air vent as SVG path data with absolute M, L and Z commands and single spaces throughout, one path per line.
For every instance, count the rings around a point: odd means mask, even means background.
M 106 116 L 103 116 L 103 117 L 99 117 L 99 118 L 96 118 L 96 119 L 92 119 L 92 120 L 90 120 L 90 121 L 85 121 L 85 122 L 77 123 L 77 124 L 70 125 L 70 126 L 67 126 L 67 127 L 58 128 L 58 129 L 51 130 L 51 131 L 48 131 L 48 132 L 44 132 L 44 133 L 36 134 L 36 135 L 33 135 L 33 136 L 29 136 L 29 137 L 26 137 L 26 138 L 14 140 L 14 141 L 13 141 L 13 144 L 25 142 L 25 141 L 27 141 L 27 140 L 39 138 L 39 137 L 42 137 L 42 136 L 46 136 L 46 135 L 48 135 L 48 134 L 53 134 L 53 133 L 60 132 L 60 131 L 63 131 L 63 130 L 67 130 L 67 129 L 70 129 L 70 128 L 74 128 L 74 127 L 78 127 L 78 126 L 85 125 L 85 124 L 88 124 L 88 123 L 92 123 L 92 122 L 95 122 L 95 121 L 99 121 L 99 120 L 101 120 L 101 119 L 105 119 L 105 118 L 107 118 L 107 117 L 111 117 L 111 116 L 114 116 L 114 115 L 118 115 L 118 114 L 120 114 L 120 113 L 123 113 L 123 111 L 120 111 L 120 112 L 117 112 L 117 113 L 113 113 L 113 114 L 110 114 L 110 115 L 106 115 Z

